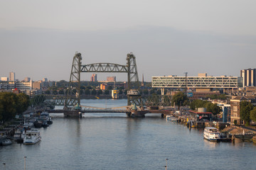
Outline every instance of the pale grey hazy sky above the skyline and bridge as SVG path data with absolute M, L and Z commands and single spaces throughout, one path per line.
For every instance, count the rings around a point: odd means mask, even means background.
M 126 64 L 153 76 L 240 76 L 255 68 L 255 0 L 0 0 L 0 77 L 69 80 L 82 64 Z M 90 80 L 91 73 L 82 73 Z M 99 80 L 126 74 L 98 74 Z

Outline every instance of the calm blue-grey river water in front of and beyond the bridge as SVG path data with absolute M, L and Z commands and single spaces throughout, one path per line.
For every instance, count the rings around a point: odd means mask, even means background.
M 125 106 L 120 100 L 82 100 L 96 107 Z M 54 115 L 41 128 L 41 142 L 0 147 L 0 169 L 256 169 L 256 145 L 208 142 L 203 130 L 188 130 L 160 115 L 127 118 L 124 113 Z

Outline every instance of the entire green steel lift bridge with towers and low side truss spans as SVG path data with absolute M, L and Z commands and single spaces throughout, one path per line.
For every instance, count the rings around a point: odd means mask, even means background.
M 135 103 L 137 106 L 169 106 L 171 103 L 170 96 L 149 96 L 143 98 L 139 94 L 139 77 L 137 72 L 136 57 L 131 53 L 127 54 L 127 63 L 113 64 L 113 63 L 94 63 L 94 64 L 82 64 L 82 55 L 80 52 L 76 52 L 73 57 L 73 64 L 70 72 L 70 82 L 68 86 L 68 93 L 66 96 L 60 95 L 44 95 L 41 100 L 44 101 L 45 105 L 52 106 L 65 106 L 68 108 L 70 106 L 80 106 L 80 81 L 81 73 L 92 72 L 92 73 L 125 73 L 127 74 L 128 83 L 128 93 L 127 93 L 127 106 L 131 106 Z M 37 100 L 40 100 L 37 99 Z M 127 109 L 127 106 L 122 108 Z M 71 107 L 72 108 L 72 107 Z M 87 106 L 84 111 L 95 110 L 99 111 L 97 108 Z M 100 111 L 107 111 L 107 109 L 100 109 Z M 108 109 L 108 111 L 114 111 L 114 109 Z

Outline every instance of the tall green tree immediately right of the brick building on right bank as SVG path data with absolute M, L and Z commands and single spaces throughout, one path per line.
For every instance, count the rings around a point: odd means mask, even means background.
M 240 103 L 240 118 L 245 121 L 245 125 L 250 125 L 250 111 L 253 106 L 249 101 L 242 101 Z

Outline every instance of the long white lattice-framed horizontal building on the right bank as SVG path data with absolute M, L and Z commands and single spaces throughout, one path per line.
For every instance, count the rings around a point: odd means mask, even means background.
M 195 89 L 237 89 L 239 77 L 208 77 L 206 73 L 198 77 L 152 77 L 152 87 L 158 88 L 195 88 Z

